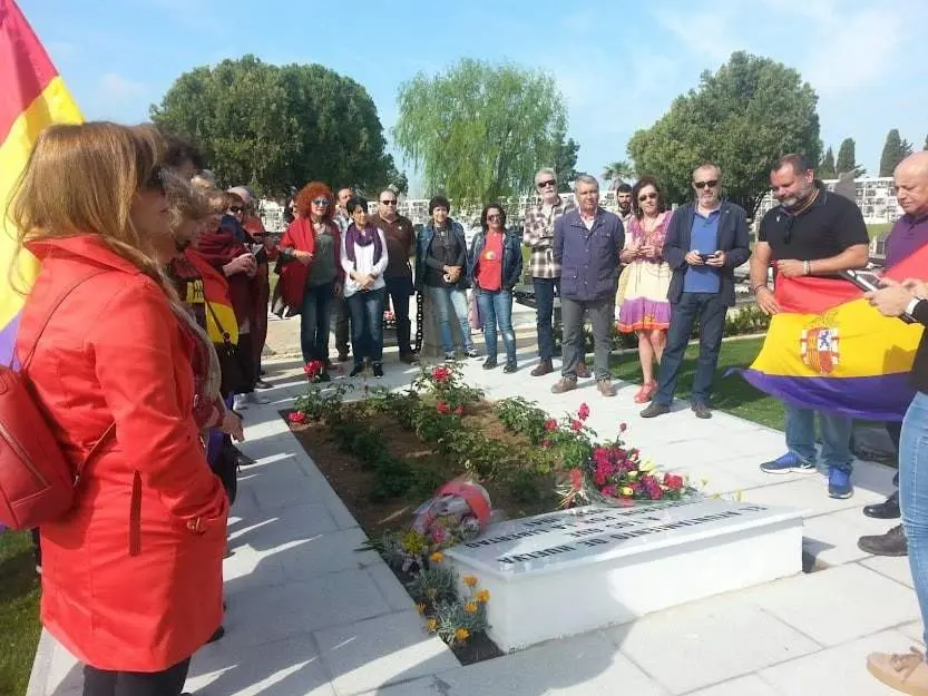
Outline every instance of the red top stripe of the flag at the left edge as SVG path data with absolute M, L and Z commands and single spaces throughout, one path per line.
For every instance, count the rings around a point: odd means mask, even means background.
M 0 143 L 56 77 L 58 71 L 16 2 L 0 0 Z

